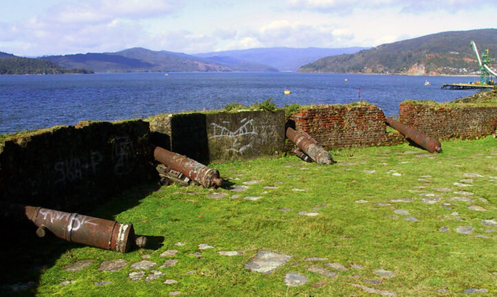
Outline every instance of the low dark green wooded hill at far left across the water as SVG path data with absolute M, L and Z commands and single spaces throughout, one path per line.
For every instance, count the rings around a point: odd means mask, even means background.
M 39 58 L 21 58 L 0 52 L 0 74 L 89 74 L 85 69 L 67 69 Z

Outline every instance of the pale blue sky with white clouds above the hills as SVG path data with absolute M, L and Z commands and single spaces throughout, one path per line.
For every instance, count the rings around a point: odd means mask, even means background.
M 497 28 L 495 0 L 0 0 L 0 8 L 0 52 L 18 56 L 368 47 Z

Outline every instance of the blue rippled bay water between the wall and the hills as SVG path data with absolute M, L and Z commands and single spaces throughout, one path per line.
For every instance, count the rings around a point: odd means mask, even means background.
M 425 80 L 431 85 L 425 86 Z M 0 134 L 81 120 L 222 109 L 232 102 L 250 105 L 267 98 L 278 107 L 365 100 L 390 116 L 407 99 L 447 102 L 472 95 L 472 90 L 442 90 L 441 85 L 474 80 L 478 78 L 294 72 L 0 76 Z M 284 95 L 285 89 L 291 94 Z

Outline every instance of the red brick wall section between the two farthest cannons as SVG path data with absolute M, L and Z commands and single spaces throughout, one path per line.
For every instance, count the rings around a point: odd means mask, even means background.
M 402 142 L 397 133 L 386 133 L 385 115 L 366 102 L 348 105 L 303 107 L 292 119 L 324 148 L 392 145 Z

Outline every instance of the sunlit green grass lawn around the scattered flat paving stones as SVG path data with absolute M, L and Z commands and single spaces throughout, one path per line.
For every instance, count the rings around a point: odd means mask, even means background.
M 91 213 L 117 221 L 132 222 L 137 234 L 164 236 L 157 250 L 141 249 L 127 254 L 110 252 L 84 245 L 71 248 L 58 256 L 53 267 L 45 270 L 36 288 L 38 296 L 167 296 L 180 291 L 180 296 L 372 296 L 352 284 L 395 292 L 397 296 L 458 296 L 469 288 L 485 288 L 497 294 L 496 233 L 481 223 L 495 219 L 497 180 L 497 140 L 452 140 L 442 142 L 443 153 L 427 156 L 419 148 L 407 144 L 390 147 L 351 148 L 331 151 L 338 164 L 307 164 L 295 156 L 278 159 L 254 159 L 247 162 L 213 164 L 223 177 L 236 185 L 260 180 L 244 192 L 219 188 L 183 188 L 163 186 L 141 199 L 137 206 L 111 217 L 113 210 L 135 199 L 139 190 L 128 190 Z M 415 152 L 415 153 L 411 153 Z M 363 170 L 376 170 L 365 173 Z M 396 170 L 401 176 L 392 175 Z M 464 173 L 478 173 L 474 186 L 454 186 Z M 430 175 L 430 177 L 422 177 Z M 421 180 L 420 180 L 421 179 Z M 278 186 L 267 189 L 265 186 Z M 420 188 L 425 187 L 425 188 Z M 441 192 L 435 188 L 451 188 Z M 292 189 L 305 189 L 296 191 Z M 474 203 L 450 201 L 462 196 L 454 191 L 474 192 Z M 417 192 L 419 191 L 419 192 Z M 209 199 L 212 192 L 227 193 L 221 199 Z M 441 199 L 435 204 L 422 203 L 419 194 L 434 193 Z M 239 197 L 232 197 L 239 195 Z M 262 196 L 258 201 L 243 199 Z M 412 203 L 375 203 L 389 199 L 412 198 Z M 487 202 L 479 199 L 486 199 Z M 356 203 L 366 200 L 367 203 Z M 443 203 L 451 203 L 444 207 Z M 485 212 L 470 210 L 471 204 L 483 206 Z M 316 206 L 324 208 L 313 209 Z M 286 212 L 278 208 L 291 208 Z M 407 210 L 402 216 L 394 210 Z M 317 217 L 298 214 L 319 212 Z M 458 212 L 459 214 L 453 214 Z M 405 221 L 415 217 L 417 222 Z M 459 219 L 461 221 L 459 221 Z M 459 234 L 458 226 L 471 225 L 472 234 Z M 446 233 L 439 228 L 448 227 Z M 482 234 L 488 238 L 476 237 Z M 176 242 L 186 243 L 175 246 Z M 190 256 L 199 243 L 214 245 L 201 252 L 203 259 Z M 165 250 L 179 250 L 173 257 L 161 258 Z M 242 256 L 221 256 L 219 251 L 239 250 Z M 260 274 L 245 265 L 260 250 L 289 254 L 290 261 L 273 274 Z M 36 255 L 36 251 L 32 251 Z M 166 259 L 178 259 L 158 280 L 131 281 L 131 263 L 149 254 L 159 266 Z M 327 257 L 323 263 L 342 263 L 346 267 L 360 264 L 362 270 L 338 272 L 326 278 L 307 271 L 313 263 L 307 257 Z M 29 259 L 29 258 L 28 258 Z M 67 272 L 64 265 L 81 259 L 96 259 L 91 267 L 80 272 Z M 119 272 L 100 272 L 102 261 L 130 261 Z M 323 263 L 314 263 L 323 266 Z M 394 278 L 373 273 L 384 269 Z M 195 270 L 191 274 L 190 272 Z M 309 283 L 301 287 L 285 285 L 285 274 L 297 272 Z M 147 272 L 148 274 L 148 272 Z M 166 279 L 178 281 L 164 285 Z M 380 285 L 362 280 L 379 280 Z M 59 285 L 62 281 L 76 281 Z M 111 281 L 104 286 L 97 281 Z M 313 283 L 325 281 L 322 287 Z M 448 289 L 448 292 L 437 292 Z

